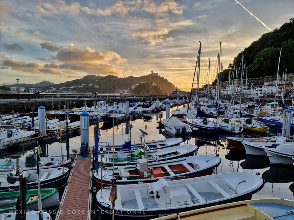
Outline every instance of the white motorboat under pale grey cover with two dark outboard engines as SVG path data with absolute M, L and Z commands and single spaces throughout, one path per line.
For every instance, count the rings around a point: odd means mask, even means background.
M 180 121 L 176 117 L 169 117 L 168 119 L 161 120 L 164 128 L 173 134 L 189 134 L 192 133 L 190 125 Z

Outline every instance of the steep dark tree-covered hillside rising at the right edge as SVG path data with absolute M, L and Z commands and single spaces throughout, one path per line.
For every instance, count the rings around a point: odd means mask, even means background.
M 280 28 L 263 34 L 258 40 L 241 51 L 233 60 L 240 65 L 242 54 L 248 67 L 248 78 L 276 75 L 278 70 L 279 53 L 282 48 L 279 74 L 294 73 L 294 18 L 284 23 Z M 285 67 L 285 68 L 284 68 Z M 223 71 L 222 81 L 228 80 L 229 70 L 233 64 Z M 239 74 L 240 77 L 240 74 Z M 216 81 L 214 81 L 215 83 Z

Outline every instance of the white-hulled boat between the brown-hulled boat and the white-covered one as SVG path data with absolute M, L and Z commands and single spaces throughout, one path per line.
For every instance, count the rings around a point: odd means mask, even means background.
M 293 137 L 291 139 L 285 139 L 282 136 L 277 137 L 268 137 L 263 139 L 251 140 L 251 141 L 242 141 L 246 154 L 248 155 L 258 155 L 266 156 L 264 149 L 275 148 L 277 145 L 288 143 L 294 143 Z

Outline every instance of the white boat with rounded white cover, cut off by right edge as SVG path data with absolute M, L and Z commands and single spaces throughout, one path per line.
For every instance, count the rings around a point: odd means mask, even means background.
M 277 148 L 265 148 L 270 163 L 277 165 L 292 165 L 294 157 L 294 144 L 281 144 Z

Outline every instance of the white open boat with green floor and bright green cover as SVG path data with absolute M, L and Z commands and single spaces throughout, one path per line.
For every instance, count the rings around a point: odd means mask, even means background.
M 196 150 L 198 150 L 198 146 L 192 144 L 159 149 L 149 148 L 148 150 L 146 150 L 146 148 L 138 148 L 133 153 L 118 151 L 117 153 L 113 154 L 103 154 L 102 163 L 105 164 L 105 166 L 122 166 L 136 164 L 138 159 L 141 159 L 141 156 L 144 155 L 144 151 L 146 151 L 145 153 L 148 158 L 147 161 L 151 163 L 153 161 L 156 162 L 162 160 L 172 160 L 176 158 L 192 156 Z M 101 156 L 98 156 L 98 163 L 101 163 Z

